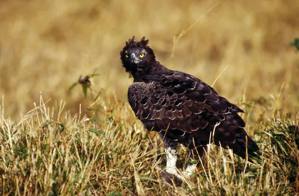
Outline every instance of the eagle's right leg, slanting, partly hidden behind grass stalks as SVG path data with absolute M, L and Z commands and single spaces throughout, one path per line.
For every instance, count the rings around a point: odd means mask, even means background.
M 204 159 L 206 151 L 207 146 L 198 146 L 197 148 L 189 149 L 189 163 L 186 170 L 182 172 L 183 177 L 189 178 L 196 171 L 196 166 L 200 160 Z

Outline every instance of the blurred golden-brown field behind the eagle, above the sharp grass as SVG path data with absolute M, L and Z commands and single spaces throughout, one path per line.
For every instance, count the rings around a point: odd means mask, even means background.
M 0 95 L 5 116 L 34 108 L 40 92 L 48 105 L 86 104 L 68 88 L 96 70 L 95 92 L 127 101 L 132 83 L 120 50 L 133 35 L 146 36 L 157 60 L 170 67 L 173 37 L 216 0 L 0 0 Z M 190 73 L 231 102 L 255 103 L 254 118 L 273 109 L 299 109 L 298 0 L 224 0 L 176 44 L 173 69 Z M 244 99 L 246 98 L 246 99 Z M 271 112 L 270 112 L 271 113 Z M 264 117 L 270 116 L 267 114 Z

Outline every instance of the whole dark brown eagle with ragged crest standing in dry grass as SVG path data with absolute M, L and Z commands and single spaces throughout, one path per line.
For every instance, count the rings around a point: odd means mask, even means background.
M 120 52 L 126 72 L 134 78 L 128 101 L 148 131 L 159 133 L 166 154 L 166 172 L 188 178 L 203 159 L 208 144 L 246 158 L 259 150 L 245 132 L 245 122 L 235 104 L 196 77 L 170 70 L 155 59 L 149 40 L 132 39 Z M 178 144 L 189 150 L 186 169 L 177 173 Z

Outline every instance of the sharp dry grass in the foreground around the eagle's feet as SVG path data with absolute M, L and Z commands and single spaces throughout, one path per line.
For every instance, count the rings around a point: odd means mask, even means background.
M 103 100 L 107 98 L 99 98 Z M 210 146 L 196 174 L 182 187 L 166 184 L 157 167 L 165 158 L 159 136 L 148 134 L 128 104 L 116 103 L 119 115 L 102 102 L 97 112 L 71 116 L 61 101 L 40 105 L 18 122 L 0 117 L 0 175 L 3 195 L 294 195 L 299 191 L 298 122 L 279 116 L 255 139 L 262 158 L 253 164 Z M 3 109 L 3 106 L 1 107 Z M 54 119 L 54 113 L 58 118 Z M 129 114 L 128 114 L 129 113 Z M 297 118 L 299 120 L 299 117 Z M 133 126 L 132 126 L 133 124 Z M 180 149 L 178 166 L 186 164 Z

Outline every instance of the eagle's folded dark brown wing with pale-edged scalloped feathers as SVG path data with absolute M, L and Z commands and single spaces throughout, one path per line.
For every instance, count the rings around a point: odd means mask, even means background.
M 204 82 L 177 71 L 150 74 L 143 81 L 129 87 L 128 100 L 148 130 L 167 130 L 168 136 L 186 145 L 194 143 L 194 137 L 196 145 L 206 145 L 217 125 L 216 145 L 230 144 L 233 148 L 237 142 L 246 147 L 245 122 L 237 114 L 244 111 Z M 248 151 L 258 150 L 250 137 L 247 142 Z

